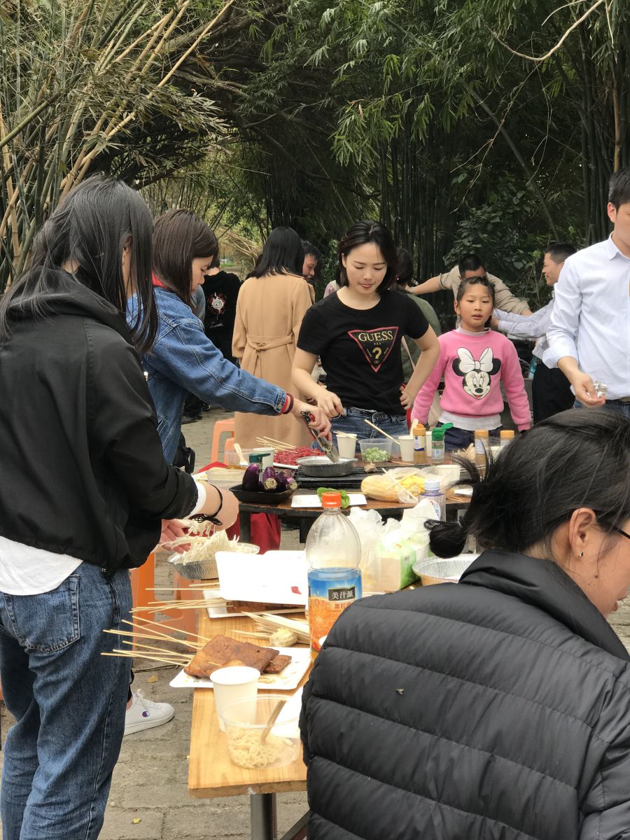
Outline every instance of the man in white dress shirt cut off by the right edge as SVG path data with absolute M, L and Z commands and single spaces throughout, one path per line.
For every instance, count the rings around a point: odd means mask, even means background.
M 560 272 L 543 360 L 563 371 L 583 406 L 630 417 L 630 169 L 612 175 L 607 210 L 610 237 L 569 257 Z

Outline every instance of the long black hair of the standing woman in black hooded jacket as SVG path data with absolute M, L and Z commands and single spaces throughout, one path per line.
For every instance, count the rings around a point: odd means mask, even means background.
M 131 278 L 139 298 L 130 324 L 134 344 L 143 352 L 157 333 L 151 288 L 153 219 L 144 199 L 123 181 L 94 175 L 71 189 L 35 237 L 29 265 L 0 302 L 0 344 L 11 333 L 12 312 L 45 318 L 55 297 L 76 282 L 95 292 L 124 315 L 128 289 L 123 278 L 123 248 L 131 249 Z

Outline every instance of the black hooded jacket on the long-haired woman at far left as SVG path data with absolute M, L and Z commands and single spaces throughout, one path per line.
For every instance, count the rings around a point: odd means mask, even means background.
M 45 300 L 45 318 L 9 309 L 0 347 L 0 535 L 112 574 L 197 490 L 165 463 L 123 315 L 69 276 Z

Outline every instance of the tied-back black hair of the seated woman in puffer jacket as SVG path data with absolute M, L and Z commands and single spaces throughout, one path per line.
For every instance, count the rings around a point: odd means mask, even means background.
M 611 536 L 630 518 L 630 421 L 605 408 L 570 408 L 537 423 L 489 459 L 483 480 L 475 464 L 456 460 L 473 495 L 461 522 L 427 522 L 438 557 L 460 554 L 469 534 L 481 549 L 550 550 L 556 528 L 580 507 Z

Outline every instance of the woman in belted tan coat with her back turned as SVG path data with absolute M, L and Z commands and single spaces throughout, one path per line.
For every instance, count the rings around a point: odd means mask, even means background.
M 302 240 L 291 228 L 274 228 L 255 270 L 244 281 L 236 305 L 232 352 L 243 370 L 285 390 L 291 389 L 291 365 L 297 333 L 311 298 L 302 276 Z M 296 395 L 297 396 L 297 395 Z M 237 412 L 234 438 L 244 447 L 268 436 L 304 446 L 307 428 L 295 417 L 262 417 Z

